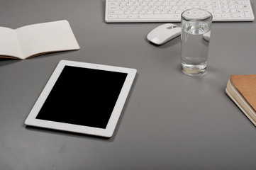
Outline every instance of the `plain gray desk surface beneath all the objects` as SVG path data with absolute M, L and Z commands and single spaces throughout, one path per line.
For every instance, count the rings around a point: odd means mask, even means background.
M 81 50 L 0 60 L 0 169 L 255 169 L 256 128 L 224 92 L 230 74 L 256 74 L 255 21 L 213 23 L 208 71 L 189 77 L 180 38 L 152 45 L 162 23 L 107 24 L 104 6 L 1 0 L 0 26 L 67 19 Z M 113 137 L 24 125 L 60 60 L 138 69 Z

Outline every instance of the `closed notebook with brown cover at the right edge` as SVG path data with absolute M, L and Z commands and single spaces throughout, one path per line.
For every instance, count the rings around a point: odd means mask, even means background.
M 256 126 L 256 74 L 231 75 L 226 94 Z

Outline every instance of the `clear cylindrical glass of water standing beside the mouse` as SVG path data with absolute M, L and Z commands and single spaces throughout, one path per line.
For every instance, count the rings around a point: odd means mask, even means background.
M 206 72 L 213 16 L 204 9 L 182 13 L 182 72 L 199 76 Z

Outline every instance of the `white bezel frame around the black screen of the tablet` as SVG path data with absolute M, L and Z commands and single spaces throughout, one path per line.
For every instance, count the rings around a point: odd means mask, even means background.
M 123 84 L 121 92 L 116 101 L 116 105 L 113 108 L 111 117 L 109 118 L 108 124 L 106 125 L 106 129 L 36 119 L 36 116 L 38 115 L 40 109 L 42 108 L 43 103 L 48 98 L 48 95 L 50 94 L 52 87 L 55 85 L 58 77 L 62 73 L 62 70 L 64 69 L 65 66 L 99 69 L 99 70 L 121 72 L 121 73 L 127 74 L 126 80 Z M 35 105 L 33 106 L 32 110 L 28 114 L 28 118 L 26 118 L 25 124 L 40 127 L 40 128 L 50 128 L 54 130 L 65 130 L 69 132 L 78 132 L 78 133 L 83 133 L 88 135 L 111 137 L 116 128 L 118 118 L 121 115 L 121 111 L 123 109 L 124 103 L 126 102 L 126 98 L 130 91 L 130 87 L 133 84 L 133 79 L 135 78 L 136 72 L 137 72 L 136 69 L 130 69 L 125 67 L 113 67 L 113 66 L 102 65 L 102 64 L 91 64 L 86 62 L 74 62 L 74 61 L 68 61 L 68 60 L 61 60 L 59 64 L 57 64 L 57 67 L 55 68 L 54 72 L 52 73 L 52 76 L 48 80 L 48 83 L 45 85 L 45 88 L 43 89 L 40 96 L 38 97 L 38 100 L 35 102 Z

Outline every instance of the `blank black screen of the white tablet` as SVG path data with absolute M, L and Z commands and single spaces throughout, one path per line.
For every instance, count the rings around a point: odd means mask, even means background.
M 127 74 L 65 66 L 37 119 L 106 128 Z

